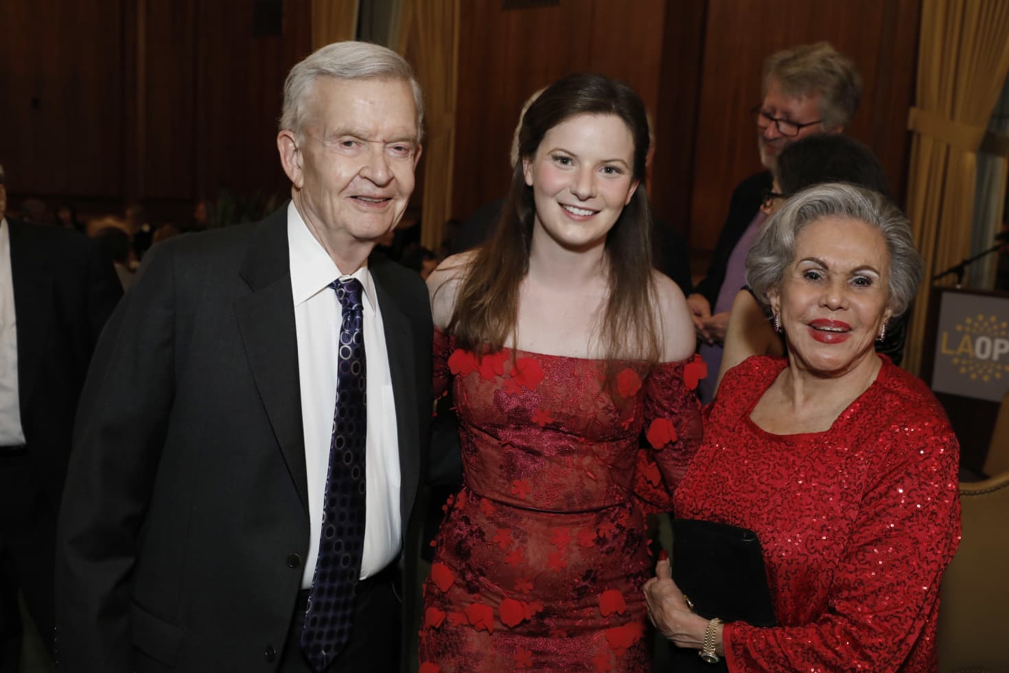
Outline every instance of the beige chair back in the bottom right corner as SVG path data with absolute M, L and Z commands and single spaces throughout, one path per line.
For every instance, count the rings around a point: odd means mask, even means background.
M 960 484 L 963 538 L 942 576 L 939 673 L 1009 671 L 1009 471 Z

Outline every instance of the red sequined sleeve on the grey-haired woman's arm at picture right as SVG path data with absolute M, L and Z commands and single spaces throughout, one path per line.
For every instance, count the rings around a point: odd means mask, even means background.
M 923 420 L 876 434 L 883 459 L 829 570 L 826 609 L 801 626 L 726 625 L 731 671 L 917 670 L 907 660 L 934 638 L 939 580 L 960 540 L 959 446 L 944 419 L 904 411 Z M 789 599 L 796 610 L 801 599 Z

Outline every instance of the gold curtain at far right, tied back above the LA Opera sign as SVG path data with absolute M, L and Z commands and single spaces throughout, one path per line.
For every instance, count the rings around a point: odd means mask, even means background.
M 1009 2 L 922 0 L 917 106 L 908 120 L 907 214 L 926 273 L 904 350 L 913 373 L 924 356 L 930 277 L 970 254 L 977 152 L 1007 72 Z

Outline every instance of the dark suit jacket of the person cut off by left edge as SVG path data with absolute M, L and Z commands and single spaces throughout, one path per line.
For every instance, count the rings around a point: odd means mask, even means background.
M 11 218 L 7 224 L 21 428 L 29 459 L 59 509 L 78 398 L 122 286 L 91 239 Z

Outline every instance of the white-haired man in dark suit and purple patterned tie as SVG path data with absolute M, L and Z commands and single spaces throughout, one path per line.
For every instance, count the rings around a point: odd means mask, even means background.
M 65 671 L 401 666 L 432 325 L 371 255 L 421 153 L 408 64 L 340 42 L 295 66 L 292 201 L 155 246 L 99 344 L 58 549 Z

